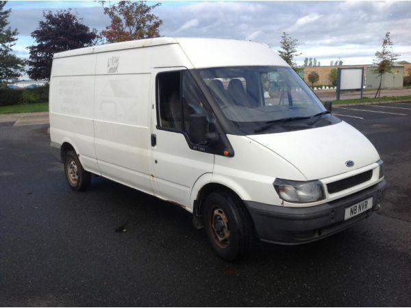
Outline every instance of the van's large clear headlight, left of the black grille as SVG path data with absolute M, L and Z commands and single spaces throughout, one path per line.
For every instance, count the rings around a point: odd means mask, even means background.
M 280 198 L 295 203 L 308 203 L 324 198 L 323 185 L 320 181 L 289 181 L 275 179 L 274 188 Z

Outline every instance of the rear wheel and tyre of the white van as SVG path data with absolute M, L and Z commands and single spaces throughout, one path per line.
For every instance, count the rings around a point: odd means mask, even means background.
M 69 151 L 64 157 L 64 172 L 72 190 L 86 190 L 90 186 L 91 173 L 84 170 L 75 151 Z

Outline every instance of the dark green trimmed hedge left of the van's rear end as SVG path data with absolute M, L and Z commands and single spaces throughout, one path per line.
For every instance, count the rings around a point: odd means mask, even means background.
M 49 85 L 37 88 L 11 89 L 0 87 L 0 106 L 42 103 L 49 101 Z

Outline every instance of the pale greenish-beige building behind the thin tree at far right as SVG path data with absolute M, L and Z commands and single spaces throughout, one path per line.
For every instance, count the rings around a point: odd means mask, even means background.
M 379 86 L 379 75 L 374 73 L 376 66 L 370 65 L 366 67 L 366 88 L 376 89 Z M 404 66 L 401 64 L 394 64 L 391 66 L 391 73 L 382 75 L 381 88 L 402 88 L 404 79 Z

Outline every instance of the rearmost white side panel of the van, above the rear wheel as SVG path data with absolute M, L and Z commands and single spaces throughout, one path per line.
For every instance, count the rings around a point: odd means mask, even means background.
M 50 136 L 71 143 L 86 170 L 99 174 L 94 148 L 93 88 L 96 55 L 53 60 L 50 80 Z

